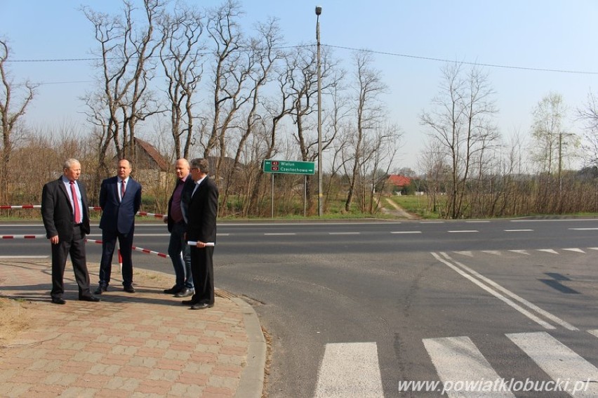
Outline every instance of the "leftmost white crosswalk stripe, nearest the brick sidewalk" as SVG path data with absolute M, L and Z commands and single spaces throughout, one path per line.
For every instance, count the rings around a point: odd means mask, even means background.
M 376 343 L 326 344 L 314 397 L 384 397 Z

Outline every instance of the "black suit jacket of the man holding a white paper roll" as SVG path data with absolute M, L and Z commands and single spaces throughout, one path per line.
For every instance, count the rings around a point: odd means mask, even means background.
M 206 176 L 189 201 L 187 240 L 215 243 L 217 215 L 218 187 Z

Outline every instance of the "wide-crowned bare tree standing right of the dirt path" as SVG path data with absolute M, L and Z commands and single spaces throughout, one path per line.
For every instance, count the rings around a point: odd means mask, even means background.
M 432 100 L 432 113 L 423 112 L 420 124 L 439 141 L 451 164 L 451 190 L 447 216 L 460 218 L 472 162 L 476 154 L 497 145 L 498 131 L 493 123 L 497 112 L 494 91 L 488 76 L 477 67 L 465 73 L 460 64 L 442 69 L 444 80 L 439 95 Z

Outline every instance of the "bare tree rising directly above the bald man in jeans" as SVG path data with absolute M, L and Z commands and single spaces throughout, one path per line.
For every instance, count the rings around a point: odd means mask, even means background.
M 160 60 L 166 75 L 175 159 L 189 157 L 194 126 L 194 93 L 203 72 L 203 16 L 179 5 L 161 20 Z

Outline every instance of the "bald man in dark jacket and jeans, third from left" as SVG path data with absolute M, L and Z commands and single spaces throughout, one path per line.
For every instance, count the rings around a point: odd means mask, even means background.
M 187 206 L 191 192 L 195 186 L 194 180 L 189 175 L 189 161 L 178 159 L 175 163 L 176 183 L 171 199 L 168 200 L 168 215 L 164 223 L 168 223 L 168 232 L 171 239 L 168 243 L 168 256 L 173 262 L 175 271 L 175 285 L 167 288 L 164 293 L 173 294 L 175 297 L 187 297 L 194 293 L 193 277 L 191 275 L 191 251 L 185 231 L 187 230 Z

